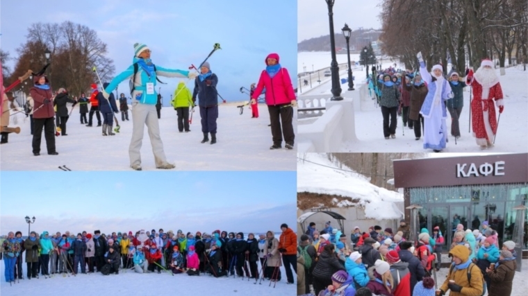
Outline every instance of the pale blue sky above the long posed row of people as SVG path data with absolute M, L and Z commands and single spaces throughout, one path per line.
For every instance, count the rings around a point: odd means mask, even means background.
M 295 172 L 2 172 L 0 234 L 295 231 Z

